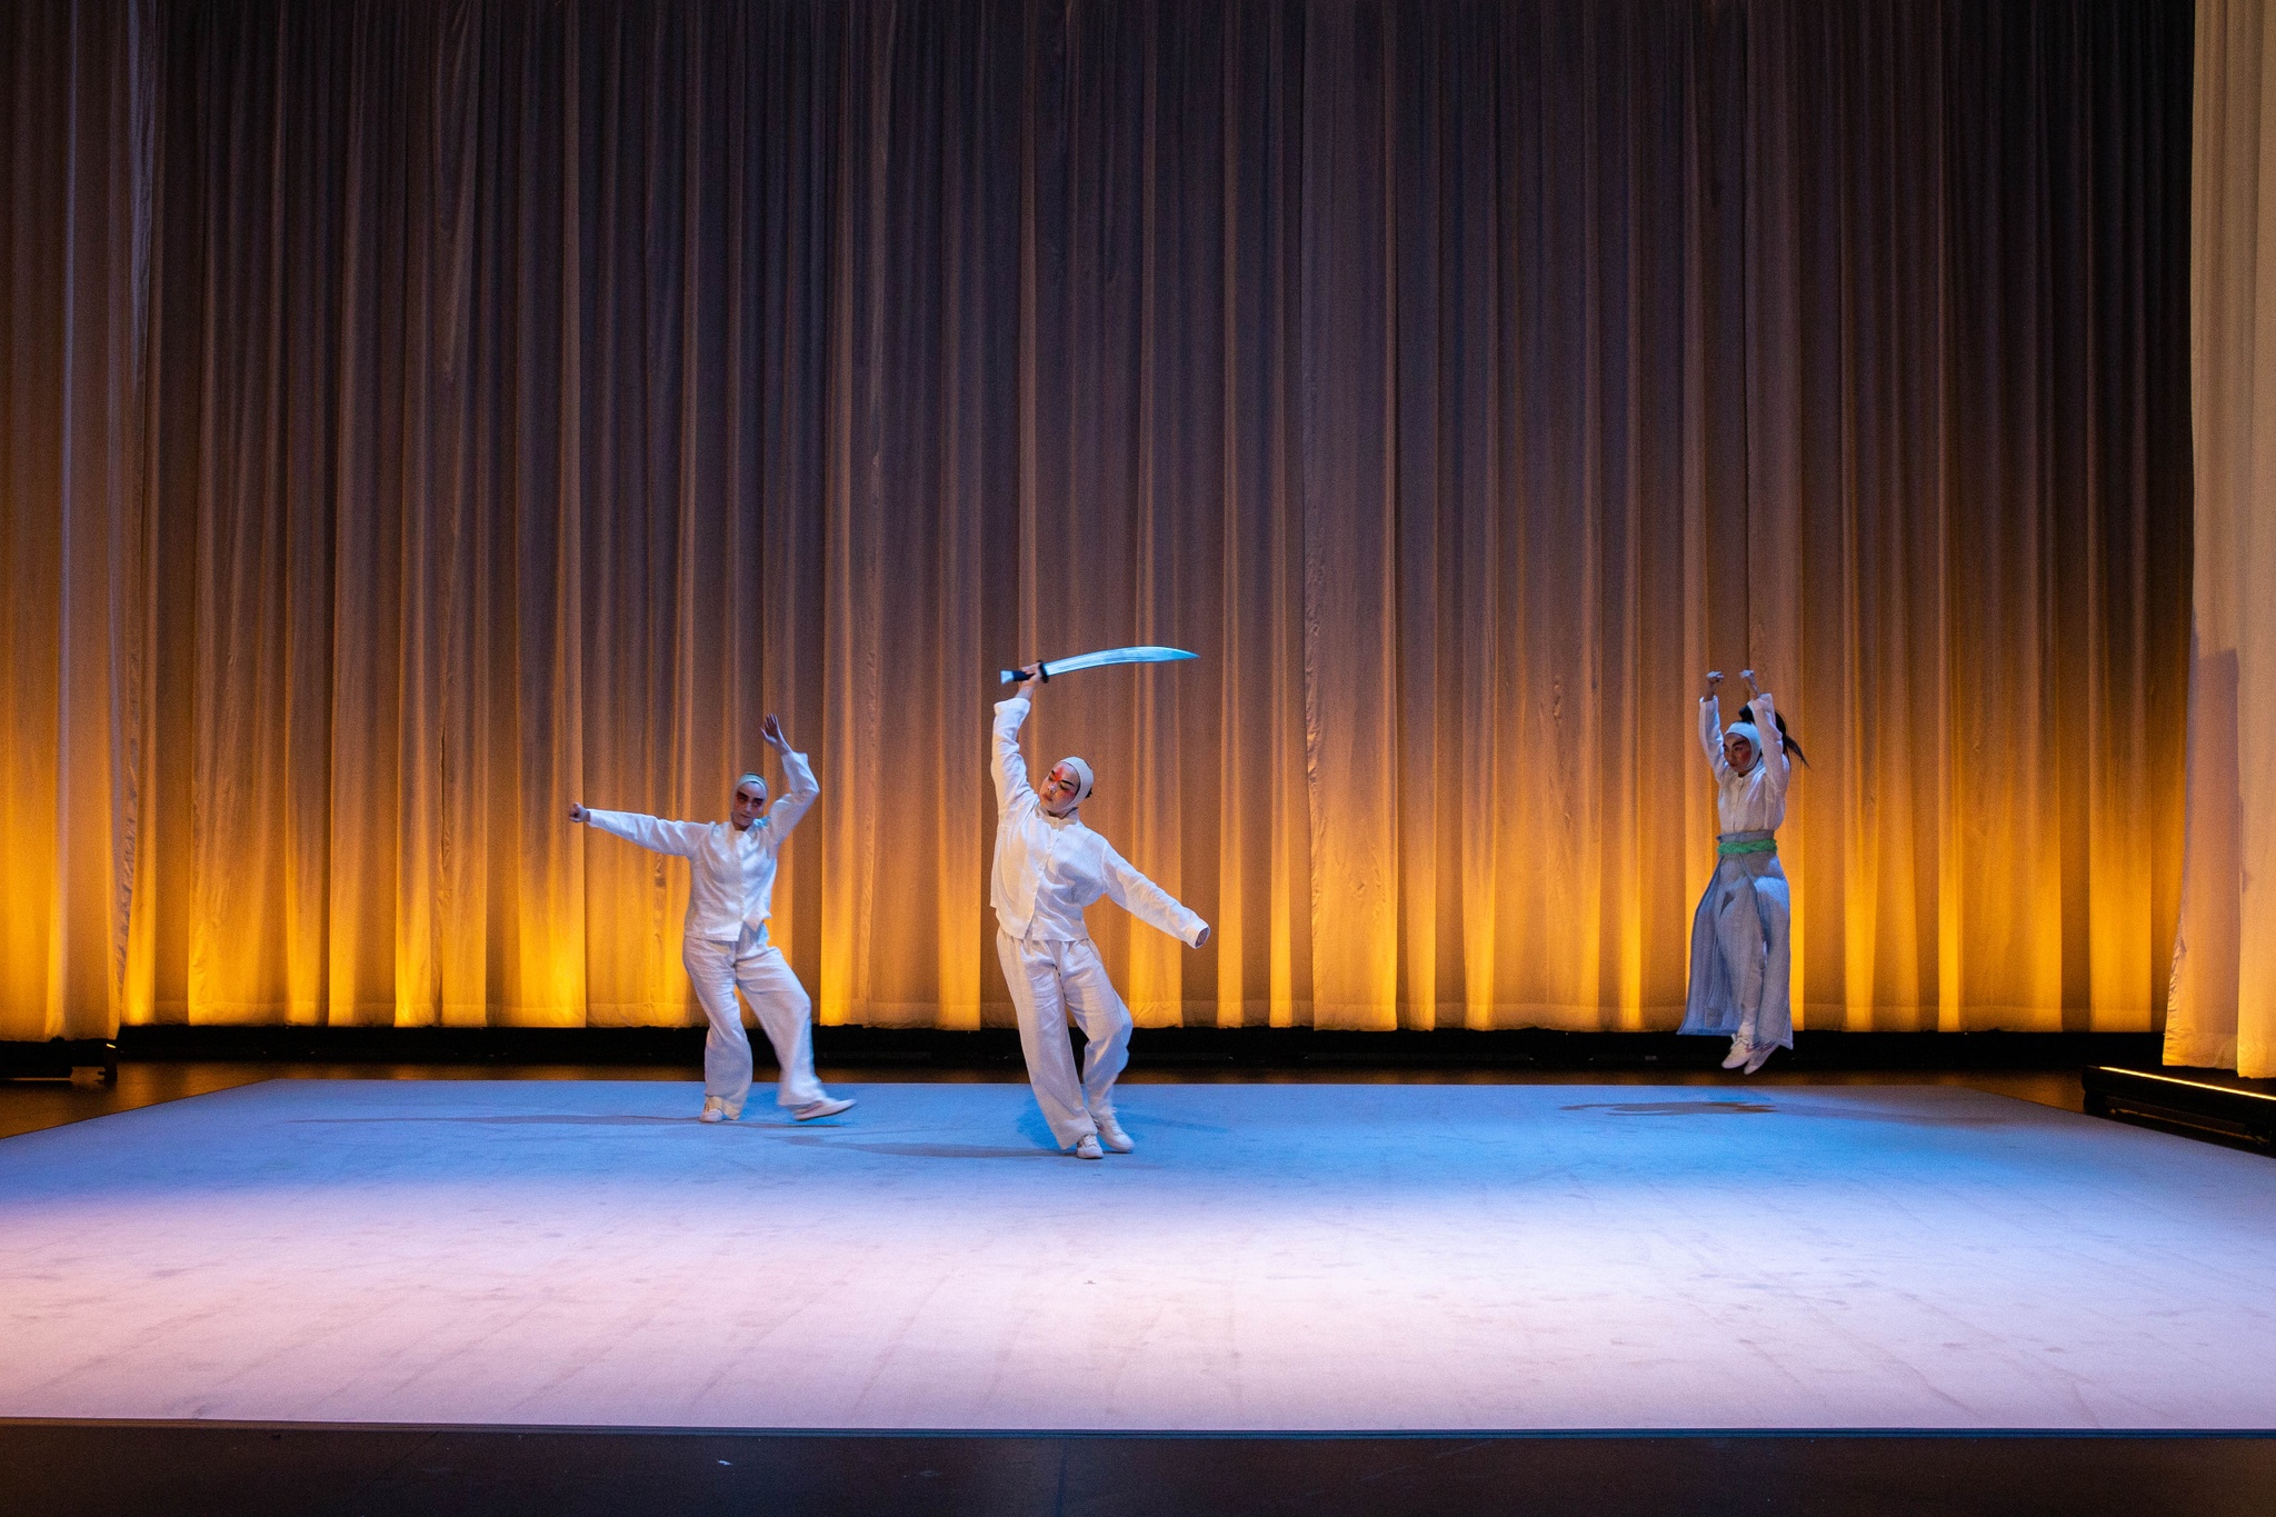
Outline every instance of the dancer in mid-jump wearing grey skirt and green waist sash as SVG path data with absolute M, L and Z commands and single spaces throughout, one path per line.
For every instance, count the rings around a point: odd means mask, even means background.
M 1723 728 L 1716 701 L 1721 671 L 1707 671 L 1700 696 L 1700 746 L 1714 769 L 1716 869 L 1691 917 L 1691 994 L 1682 1033 L 1730 1037 L 1723 1069 L 1755 1073 L 1778 1048 L 1793 1046 L 1791 896 L 1778 867 L 1778 826 L 1787 819 L 1787 757 L 1805 764 L 1800 744 L 1771 696 L 1746 680 L 1746 716 Z

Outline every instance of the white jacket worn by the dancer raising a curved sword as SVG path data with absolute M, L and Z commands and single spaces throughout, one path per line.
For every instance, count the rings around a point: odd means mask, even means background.
M 1026 705 L 1026 696 L 999 701 L 995 719 L 997 857 L 988 894 L 997 926 L 1022 942 L 1081 942 L 1090 937 L 1083 907 L 1111 896 L 1138 921 L 1190 948 L 1204 930 L 1199 917 L 1131 869 L 1081 816 L 1042 810 L 1020 753 Z

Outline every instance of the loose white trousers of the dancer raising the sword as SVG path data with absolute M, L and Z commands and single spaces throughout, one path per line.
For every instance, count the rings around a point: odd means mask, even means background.
M 1088 937 L 1038 942 L 997 928 L 997 960 L 1020 1017 L 1026 1083 L 1052 1137 L 1072 1149 L 1097 1135 L 1097 1117 L 1115 1110 L 1115 1076 L 1131 1058 L 1131 1012 Z M 1074 1076 L 1070 1021 L 1086 1039 L 1081 1078 Z

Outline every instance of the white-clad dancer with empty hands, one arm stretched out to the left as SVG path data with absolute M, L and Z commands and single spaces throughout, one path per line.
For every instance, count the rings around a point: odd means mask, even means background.
M 767 716 L 765 737 L 790 782 L 772 812 L 767 782 L 756 773 L 735 780 L 726 821 L 662 821 L 640 812 L 569 807 L 569 821 L 587 821 L 642 848 L 687 860 L 687 937 L 681 962 L 687 964 L 687 978 L 710 1021 L 703 1037 L 703 1121 L 740 1119 L 751 1094 L 751 1039 L 744 1037 L 742 1008 L 735 1005 L 737 987 L 751 998 L 758 1026 L 774 1044 L 774 1062 L 781 1067 L 774 1103 L 799 1121 L 835 1117 L 853 1105 L 849 1099 L 833 1099 L 815 1080 L 815 1039 L 808 1026 L 813 1001 L 783 951 L 767 942 L 776 857 L 822 787 L 774 716 Z

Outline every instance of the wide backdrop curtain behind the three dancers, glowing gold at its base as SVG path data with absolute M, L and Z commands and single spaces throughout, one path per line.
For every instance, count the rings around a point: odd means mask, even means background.
M 1006 1021 L 995 669 L 1129 641 L 1202 657 L 1031 737 L 1215 923 L 1097 914 L 1149 1026 L 1673 1026 L 1709 664 L 1814 760 L 1805 1026 L 2155 1026 L 2185 7 L 150 14 L 148 268 L 9 198 L 118 291 L 11 275 L 25 414 L 152 430 L 116 616 L 14 603 L 0 1030 L 685 1021 L 683 867 L 562 814 L 719 814 L 769 710 L 819 1014 Z

